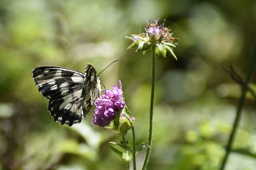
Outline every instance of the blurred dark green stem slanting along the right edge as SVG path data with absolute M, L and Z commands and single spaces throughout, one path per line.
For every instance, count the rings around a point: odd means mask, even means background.
M 249 80 L 252 76 L 253 67 L 254 67 L 255 62 L 256 62 L 256 47 L 254 47 L 254 48 L 255 48 L 254 49 L 254 54 L 252 55 L 252 57 L 250 59 L 249 66 L 248 66 L 246 81 L 244 82 L 244 84 L 242 86 L 242 95 L 241 95 L 241 97 L 238 101 L 238 106 L 237 106 L 237 111 L 236 111 L 236 120 L 234 122 L 233 129 L 230 133 L 230 137 L 229 137 L 228 144 L 227 144 L 227 147 L 226 147 L 226 154 L 225 154 L 224 159 L 222 161 L 222 165 L 220 167 L 220 170 L 224 170 L 224 168 L 226 166 L 228 155 L 230 154 L 232 143 L 234 142 L 234 137 L 236 135 L 236 131 L 238 129 L 238 125 L 240 123 L 240 119 L 241 119 L 241 116 L 242 116 L 242 108 L 243 108 L 244 102 L 246 100 L 246 92 L 248 91 L 247 89 L 248 89 Z

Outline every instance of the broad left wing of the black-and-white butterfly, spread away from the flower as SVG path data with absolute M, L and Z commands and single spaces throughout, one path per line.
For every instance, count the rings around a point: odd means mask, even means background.
M 39 92 L 50 100 L 48 111 L 54 121 L 69 126 L 81 122 L 84 74 L 58 66 L 40 66 L 33 70 L 33 78 Z

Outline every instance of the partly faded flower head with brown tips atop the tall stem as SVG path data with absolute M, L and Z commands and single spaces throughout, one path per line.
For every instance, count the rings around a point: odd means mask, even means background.
M 170 33 L 171 29 L 169 29 L 170 27 L 164 27 L 164 23 L 162 25 L 158 25 L 158 21 L 159 18 L 158 20 L 154 20 L 154 23 L 150 23 L 150 20 L 149 22 L 146 21 L 148 24 L 145 27 L 146 33 L 140 33 L 138 35 L 132 35 L 132 37 L 126 37 L 132 39 L 133 41 L 132 45 L 130 45 L 128 49 L 132 47 L 138 47 L 136 52 L 146 51 L 154 45 L 157 47 L 157 54 L 161 54 L 166 57 L 166 50 L 168 50 L 176 58 L 172 51 L 172 47 L 176 47 L 176 43 L 173 42 L 178 41 L 179 39 L 172 37 L 172 33 Z

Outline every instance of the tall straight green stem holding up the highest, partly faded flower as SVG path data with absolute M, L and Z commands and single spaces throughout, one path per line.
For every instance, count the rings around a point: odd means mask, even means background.
M 156 45 L 152 45 L 152 86 L 151 86 L 151 100 L 150 100 L 150 117 L 149 117 L 149 135 L 148 135 L 148 148 L 146 151 L 146 156 L 144 159 L 144 164 L 142 166 L 142 170 L 146 169 L 149 160 L 149 154 L 152 145 L 152 138 L 153 138 L 153 109 L 154 109 L 154 94 L 155 94 L 155 66 L 156 66 Z

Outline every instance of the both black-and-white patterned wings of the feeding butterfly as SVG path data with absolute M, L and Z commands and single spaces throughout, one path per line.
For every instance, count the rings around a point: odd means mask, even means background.
M 88 64 L 84 74 L 58 66 L 40 66 L 33 70 L 39 92 L 49 100 L 48 111 L 54 121 L 72 126 L 80 123 L 99 98 L 100 78 Z

